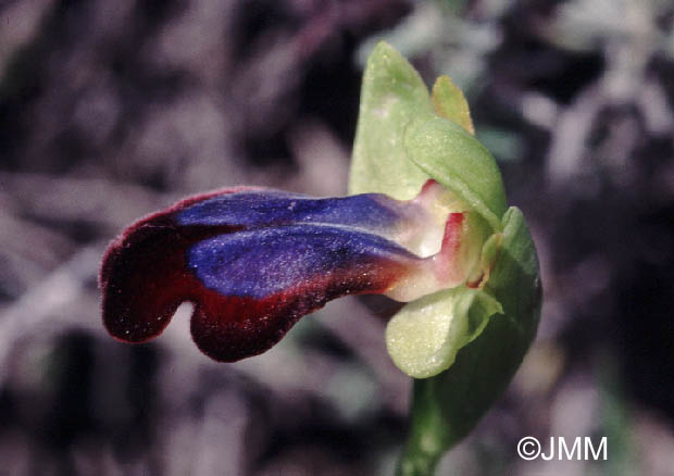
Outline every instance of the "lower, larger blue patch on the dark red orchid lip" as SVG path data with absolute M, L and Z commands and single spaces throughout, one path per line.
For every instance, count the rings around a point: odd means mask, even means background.
M 208 289 L 254 299 L 330 275 L 369 275 L 386 266 L 411 266 L 414 259 L 379 236 L 321 225 L 219 235 L 194 245 L 187 252 L 188 266 Z

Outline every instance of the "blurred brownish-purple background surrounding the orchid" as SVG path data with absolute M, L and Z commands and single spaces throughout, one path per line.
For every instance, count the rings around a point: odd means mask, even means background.
M 0 475 L 389 475 L 410 381 L 382 299 L 215 364 L 189 309 L 107 336 L 97 268 L 197 191 L 344 193 L 378 38 L 465 89 L 532 226 L 537 341 L 438 474 L 674 474 L 674 4 L 0 0 Z M 524 462 L 520 438 L 609 438 Z

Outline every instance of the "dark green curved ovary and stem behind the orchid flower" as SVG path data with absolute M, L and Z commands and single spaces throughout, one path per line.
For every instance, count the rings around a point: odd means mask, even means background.
M 477 424 L 503 392 L 538 327 L 541 286 L 536 249 L 522 212 L 503 216 L 503 235 L 485 291 L 503 315 L 489 318 L 449 369 L 415 379 L 410 437 L 399 476 L 430 475 L 440 456 Z

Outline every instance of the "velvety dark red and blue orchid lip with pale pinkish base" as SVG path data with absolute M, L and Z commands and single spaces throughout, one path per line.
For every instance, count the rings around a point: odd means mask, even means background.
M 458 286 L 476 256 L 466 213 L 438 211 L 439 193 L 429 183 L 410 201 L 250 188 L 184 200 L 109 247 L 103 322 L 115 338 L 143 342 L 190 301 L 197 346 L 232 362 L 267 350 L 332 299 L 385 293 L 408 301 Z M 434 241 L 435 253 L 426 253 Z

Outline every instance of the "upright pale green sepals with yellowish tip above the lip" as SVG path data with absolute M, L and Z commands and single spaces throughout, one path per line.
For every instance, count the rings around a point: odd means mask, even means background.
M 400 53 L 383 41 L 375 47 L 363 75 L 349 193 L 409 200 L 434 178 L 479 213 L 492 231 L 500 231 L 506 212 L 500 172 L 489 151 L 464 128 L 472 126 L 467 103 L 445 78 L 436 83 L 432 101 L 423 79 Z

